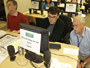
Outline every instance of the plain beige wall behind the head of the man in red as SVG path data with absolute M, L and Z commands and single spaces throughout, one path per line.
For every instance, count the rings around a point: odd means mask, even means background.
M 21 13 L 27 12 L 29 10 L 29 8 L 31 7 L 31 0 L 16 0 L 18 3 L 18 11 Z M 6 2 L 7 0 L 4 0 L 4 5 L 5 5 L 5 12 L 6 12 L 6 17 L 8 14 L 8 10 L 6 7 Z

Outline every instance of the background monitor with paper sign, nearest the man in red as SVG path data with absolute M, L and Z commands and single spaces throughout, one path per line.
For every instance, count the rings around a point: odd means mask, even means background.
M 37 10 L 42 10 L 42 0 L 31 0 L 31 8 L 34 13 L 37 13 Z

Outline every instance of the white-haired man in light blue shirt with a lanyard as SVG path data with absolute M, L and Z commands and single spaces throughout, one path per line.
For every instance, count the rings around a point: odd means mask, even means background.
M 78 68 L 90 68 L 90 28 L 85 26 L 85 19 L 76 16 L 73 20 L 70 44 L 79 47 Z

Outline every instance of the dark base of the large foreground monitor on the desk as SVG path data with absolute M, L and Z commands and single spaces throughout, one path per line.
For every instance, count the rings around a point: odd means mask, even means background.
M 26 50 L 25 58 L 29 59 L 30 61 L 33 61 L 35 63 L 42 63 L 43 57 L 40 55 L 37 55 L 31 51 Z

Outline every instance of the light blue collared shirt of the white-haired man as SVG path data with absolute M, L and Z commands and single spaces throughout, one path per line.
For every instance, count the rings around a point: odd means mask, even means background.
M 70 44 L 79 45 L 79 55 L 90 56 L 90 28 L 85 26 L 81 36 L 73 30 L 70 34 Z

